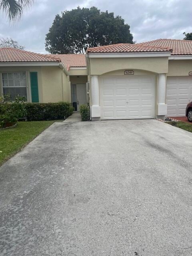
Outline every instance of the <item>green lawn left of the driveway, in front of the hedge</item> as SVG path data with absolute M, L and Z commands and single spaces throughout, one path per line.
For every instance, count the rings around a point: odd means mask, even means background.
M 0 165 L 16 154 L 55 121 L 18 122 L 14 128 L 0 130 Z

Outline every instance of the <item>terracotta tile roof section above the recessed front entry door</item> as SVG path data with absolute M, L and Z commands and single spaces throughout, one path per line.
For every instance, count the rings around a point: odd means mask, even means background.
M 58 56 L 67 70 L 70 70 L 70 67 L 86 67 L 85 54 L 51 54 L 51 56 L 52 55 Z

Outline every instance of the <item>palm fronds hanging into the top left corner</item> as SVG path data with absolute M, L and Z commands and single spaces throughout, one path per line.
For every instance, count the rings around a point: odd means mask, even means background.
M 23 10 L 30 7 L 34 0 L 0 0 L 0 9 L 6 13 L 10 21 L 18 20 Z

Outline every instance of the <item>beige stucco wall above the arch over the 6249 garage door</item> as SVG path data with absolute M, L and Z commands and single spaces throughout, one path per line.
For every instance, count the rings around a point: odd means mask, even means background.
M 90 58 L 90 75 L 114 70 L 146 70 L 157 74 L 168 72 L 168 57 Z

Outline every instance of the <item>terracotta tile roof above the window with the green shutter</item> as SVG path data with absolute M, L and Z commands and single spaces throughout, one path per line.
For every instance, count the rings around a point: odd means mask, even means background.
M 27 52 L 15 48 L 0 48 L 0 62 L 44 62 L 44 61 L 57 61 L 60 58 L 50 56 L 50 54 L 38 54 L 34 52 Z

